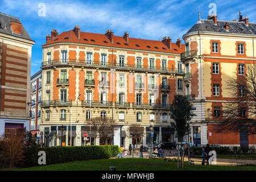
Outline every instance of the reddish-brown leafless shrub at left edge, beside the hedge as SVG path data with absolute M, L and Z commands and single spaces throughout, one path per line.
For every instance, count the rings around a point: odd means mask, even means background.
M 26 133 L 20 132 L 3 134 L 0 137 L 1 160 L 10 168 L 24 160 L 24 137 Z

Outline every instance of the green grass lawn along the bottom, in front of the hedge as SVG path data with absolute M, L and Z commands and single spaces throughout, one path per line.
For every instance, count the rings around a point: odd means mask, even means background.
M 13 170 L 25 171 L 109 171 L 110 166 L 117 167 L 117 171 L 171 171 L 177 169 L 176 162 L 166 162 L 163 159 L 100 159 L 86 160 L 72 163 L 52 164 L 47 166 L 38 166 L 31 168 L 20 168 Z M 254 170 L 256 167 L 251 166 L 197 166 L 184 165 L 183 170 Z

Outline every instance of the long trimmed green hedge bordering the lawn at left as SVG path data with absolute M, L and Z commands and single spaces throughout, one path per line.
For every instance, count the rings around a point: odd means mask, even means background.
M 38 165 L 38 152 L 46 152 L 46 164 L 74 162 L 76 160 L 108 159 L 117 156 L 118 146 L 75 146 L 75 147 L 36 147 L 26 155 L 26 167 Z M 32 155 L 31 155 L 32 153 Z

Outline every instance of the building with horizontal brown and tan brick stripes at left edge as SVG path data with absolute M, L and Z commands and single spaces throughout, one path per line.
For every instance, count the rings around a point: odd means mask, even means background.
M 34 43 L 19 18 L 0 13 L 0 134 L 29 130 Z

